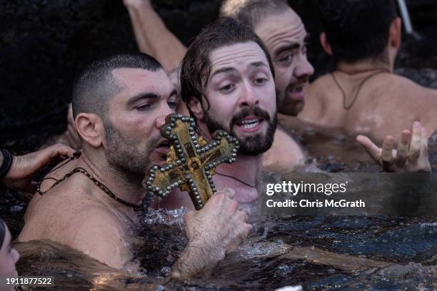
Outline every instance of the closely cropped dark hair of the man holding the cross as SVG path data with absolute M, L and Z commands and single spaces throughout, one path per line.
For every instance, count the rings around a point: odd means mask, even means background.
M 120 91 L 111 71 L 116 68 L 143 68 L 158 71 L 161 64 L 146 53 L 115 53 L 89 63 L 73 86 L 73 115 L 95 113 L 105 119 L 108 101 Z

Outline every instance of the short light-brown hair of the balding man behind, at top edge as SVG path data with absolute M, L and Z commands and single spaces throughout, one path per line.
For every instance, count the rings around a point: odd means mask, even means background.
M 254 29 L 261 19 L 286 9 L 290 9 L 286 0 L 225 0 L 220 16 L 231 17 Z

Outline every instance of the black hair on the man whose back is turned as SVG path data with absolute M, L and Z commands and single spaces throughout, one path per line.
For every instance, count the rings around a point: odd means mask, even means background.
M 393 0 L 319 0 L 318 13 L 336 62 L 388 61 Z

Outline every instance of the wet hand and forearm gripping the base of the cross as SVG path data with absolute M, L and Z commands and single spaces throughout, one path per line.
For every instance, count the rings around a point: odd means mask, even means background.
M 226 253 L 246 240 L 251 225 L 246 223 L 247 213 L 238 210 L 229 188 L 214 194 L 199 211 L 185 215 L 189 244 L 173 266 L 171 277 L 185 279 L 196 275 L 209 275 Z

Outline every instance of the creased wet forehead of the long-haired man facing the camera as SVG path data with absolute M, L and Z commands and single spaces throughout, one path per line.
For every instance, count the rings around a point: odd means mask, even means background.
M 268 67 L 266 54 L 253 41 L 223 46 L 211 51 L 211 76 L 223 68 L 247 68 L 251 63 L 262 62 Z

